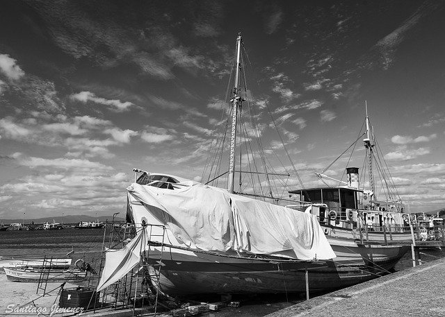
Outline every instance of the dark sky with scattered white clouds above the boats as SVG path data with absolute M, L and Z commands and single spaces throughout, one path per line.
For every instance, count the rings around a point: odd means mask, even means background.
M 0 219 L 123 213 L 133 167 L 199 179 L 238 31 L 264 146 L 285 157 L 268 109 L 305 186 L 357 138 L 366 101 L 401 198 L 445 207 L 444 7 L 2 1 Z

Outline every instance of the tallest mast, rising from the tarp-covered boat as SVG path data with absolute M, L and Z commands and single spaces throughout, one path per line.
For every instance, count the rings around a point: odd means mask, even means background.
M 238 33 L 236 38 L 236 75 L 235 75 L 235 87 L 234 98 L 232 98 L 232 134 L 230 135 L 230 163 L 229 163 L 229 192 L 234 192 L 234 180 L 235 180 L 235 143 L 236 143 L 236 119 L 238 119 L 238 108 L 243 101 L 239 96 L 239 70 L 241 68 L 241 33 Z

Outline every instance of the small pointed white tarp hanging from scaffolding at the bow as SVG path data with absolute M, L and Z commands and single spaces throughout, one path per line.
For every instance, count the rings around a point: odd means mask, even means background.
M 140 252 L 147 246 L 147 242 L 147 228 L 143 228 L 124 248 L 106 250 L 104 271 L 97 284 L 97 291 L 117 282 L 139 264 Z

